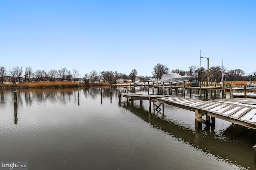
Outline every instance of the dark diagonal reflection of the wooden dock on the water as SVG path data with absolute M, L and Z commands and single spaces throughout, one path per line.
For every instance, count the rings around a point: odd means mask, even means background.
M 255 145 L 256 131 L 252 129 L 234 124 L 221 131 L 215 131 L 211 126 L 191 130 L 175 121 L 165 119 L 163 114 L 151 114 L 143 107 L 132 106 L 128 102 L 119 102 L 119 106 L 202 152 L 213 154 L 244 168 L 248 168 L 248 165 L 254 167 L 252 147 Z

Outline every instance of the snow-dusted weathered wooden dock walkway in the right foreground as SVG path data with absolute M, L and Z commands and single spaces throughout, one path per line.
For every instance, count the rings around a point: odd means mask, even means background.
M 119 97 L 120 94 L 119 94 Z M 215 123 L 215 117 L 225 121 L 230 121 L 244 127 L 256 129 L 256 100 L 249 98 L 235 98 L 235 99 L 218 99 L 218 100 L 198 100 L 191 98 L 176 97 L 172 95 L 141 95 L 128 93 L 123 94 L 123 97 L 127 100 L 149 100 L 149 111 L 151 112 L 151 102 L 157 106 L 154 102 L 160 102 L 162 104 L 168 104 L 183 109 L 195 111 L 196 127 L 200 127 L 202 124 Z M 159 105 L 159 106 L 160 106 Z M 156 109 L 160 109 L 157 106 Z M 164 106 L 163 106 L 164 109 Z M 202 116 L 206 116 L 206 120 L 202 119 Z M 210 122 L 210 117 L 211 121 Z

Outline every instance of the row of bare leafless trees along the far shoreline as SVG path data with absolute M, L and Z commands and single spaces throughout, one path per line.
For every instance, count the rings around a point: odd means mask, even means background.
M 180 70 L 180 69 L 173 69 L 171 70 L 172 73 L 178 73 L 181 76 L 191 76 L 192 80 L 199 81 L 202 75 L 202 82 L 207 81 L 207 69 L 204 67 L 198 67 L 195 65 L 191 65 L 188 67 L 187 71 Z M 120 72 L 113 72 L 113 71 L 101 71 L 98 73 L 95 70 L 92 70 L 90 73 L 84 74 L 83 82 L 84 83 L 95 83 L 98 81 L 109 82 L 109 83 L 116 83 L 116 80 L 123 78 L 123 79 L 130 79 L 134 82 L 136 77 L 139 77 L 142 82 L 146 82 L 148 78 L 157 78 L 158 80 L 161 79 L 163 74 L 170 73 L 170 69 L 165 65 L 160 63 L 156 64 L 153 68 L 152 76 L 138 76 L 137 70 L 134 68 L 129 75 L 120 73 Z M 227 70 L 222 66 L 212 66 L 209 68 L 209 81 L 217 81 L 219 82 L 222 79 L 226 81 L 256 81 L 256 72 L 247 74 L 241 69 L 235 70 Z M 24 78 L 25 82 L 30 82 L 31 79 L 35 79 L 37 81 L 56 81 L 56 80 L 67 80 L 67 81 L 77 81 L 80 79 L 80 73 L 76 69 L 67 70 L 65 67 L 61 68 L 60 70 L 51 69 L 49 71 L 46 70 L 35 70 L 33 71 L 30 66 L 25 67 L 23 70 L 22 66 L 15 66 L 9 68 L 8 70 L 4 66 L 0 66 L 0 82 L 4 82 L 4 77 L 10 76 L 10 79 L 13 84 L 17 82 L 20 83 L 21 78 Z

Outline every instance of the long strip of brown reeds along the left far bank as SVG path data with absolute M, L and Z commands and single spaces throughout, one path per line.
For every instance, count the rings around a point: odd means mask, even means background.
M 0 88 L 71 88 L 71 87 L 80 87 L 82 86 L 107 86 L 108 83 L 89 83 L 83 84 L 78 82 L 69 82 L 69 81 L 55 81 L 55 82 L 26 82 L 21 84 L 0 84 Z

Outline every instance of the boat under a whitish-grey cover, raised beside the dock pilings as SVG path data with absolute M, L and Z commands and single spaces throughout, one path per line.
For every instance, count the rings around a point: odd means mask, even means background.
M 163 74 L 162 78 L 159 80 L 159 83 L 162 84 L 169 84 L 169 82 L 172 82 L 172 84 L 181 83 L 181 82 L 188 82 L 192 77 L 191 76 L 180 76 L 178 73 L 168 73 Z

